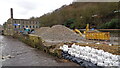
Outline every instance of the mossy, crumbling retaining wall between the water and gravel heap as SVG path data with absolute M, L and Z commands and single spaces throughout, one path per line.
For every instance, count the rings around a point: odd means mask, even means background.
M 57 45 L 50 45 L 47 46 L 45 41 L 37 35 L 29 34 L 29 35 L 21 35 L 21 34 L 14 34 L 14 38 L 19 39 L 20 41 L 24 42 L 25 44 L 42 50 L 48 54 L 61 58 L 62 51 L 59 48 L 56 48 Z

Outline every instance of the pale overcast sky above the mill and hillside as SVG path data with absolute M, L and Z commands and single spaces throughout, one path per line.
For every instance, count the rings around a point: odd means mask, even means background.
M 32 16 L 40 17 L 72 2 L 73 0 L 0 0 L 0 24 L 10 18 L 10 8 L 13 8 L 14 18 L 28 19 Z

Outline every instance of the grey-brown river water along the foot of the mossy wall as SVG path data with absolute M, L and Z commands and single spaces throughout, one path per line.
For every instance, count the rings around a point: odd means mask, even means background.
M 8 36 L 0 35 L 0 47 L 2 66 L 79 66 L 73 62 L 57 62 L 55 57 Z

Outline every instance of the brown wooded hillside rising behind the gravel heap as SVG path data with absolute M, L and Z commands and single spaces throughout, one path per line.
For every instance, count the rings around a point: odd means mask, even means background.
M 114 10 L 118 10 L 117 2 L 74 2 L 68 6 L 62 6 L 52 13 L 44 14 L 37 19 L 41 22 L 41 26 L 63 24 L 74 29 L 85 28 L 86 24 L 89 23 L 90 25 L 95 24 L 98 27 L 116 17 L 114 15 L 110 16 Z M 92 17 L 93 15 L 97 16 Z M 104 25 L 104 27 L 107 27 L 107 25 Z

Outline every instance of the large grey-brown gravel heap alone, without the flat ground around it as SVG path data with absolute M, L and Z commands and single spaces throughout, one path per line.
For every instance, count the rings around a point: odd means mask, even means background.
M 54 42 L 71 42 L 81 40 L 78 34 L 73 30 L 63 26 L 63 25 L 54 25 L 51 28 L 43 27 L 40 28 L 37 35 L 41 36 L 45 41 L 54 41 Z

